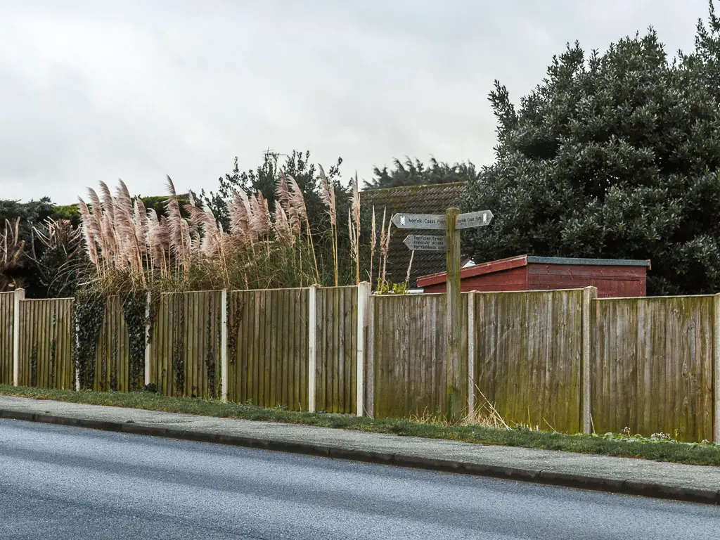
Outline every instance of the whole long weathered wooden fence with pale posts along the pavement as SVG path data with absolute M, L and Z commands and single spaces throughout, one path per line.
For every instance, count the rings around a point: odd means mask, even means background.
M 387 418 L 446 413 L 450 375 L 467 379 L 476 418 L 720 442 L 720 295 L 464 293 L 462 373 L 449 374 L 445 295 L 369 296 L 366 285 L 161 294 L 148 305 L 144 377 L 109 298 L 93 387 L 142 378 L 165 395 Z M 73 300 L 22 298 L 0 294 L 0 384 L 72 388 Z

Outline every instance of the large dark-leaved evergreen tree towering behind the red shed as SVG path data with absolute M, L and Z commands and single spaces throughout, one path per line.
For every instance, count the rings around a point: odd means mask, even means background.
M 519 107 L 495 82 L 496 161 L 466 210 L 492 225 L 475 261 L 541 256 L 651 259 L 651 294 L 720 292 L 720 22 L 668 61 L 651 29 L 590 55 L 576 42 Z

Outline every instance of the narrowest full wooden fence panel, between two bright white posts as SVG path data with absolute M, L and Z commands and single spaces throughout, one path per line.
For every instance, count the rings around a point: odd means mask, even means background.
M 356 413 L 357 287 L 318 289 L 315 410 Z

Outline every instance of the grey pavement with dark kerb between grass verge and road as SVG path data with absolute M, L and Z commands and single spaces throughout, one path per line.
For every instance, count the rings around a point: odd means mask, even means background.
M 720 467 L 0 396 L 0 418 L 720 504 Z

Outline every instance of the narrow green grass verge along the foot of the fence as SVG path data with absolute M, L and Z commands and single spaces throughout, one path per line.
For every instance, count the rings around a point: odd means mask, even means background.
M 401 436 L 443 438 L 477 444 L 519 446 L 524 448 L 562 450 L 582 454 L 635 457 L 661 462 L 695 465 L 720 465 L 720 445 L 687 444 L 666 438 L 644 438 L 619 433 L 607 436 L 565 435 L 553 431 L 482 424 L 448 424 L 429 418 L 379 419 L 351 415 L 300 413 L 281 408 L 266 409 L 255 405 L 222 403 L 187 397 L 167 397 L 152 392 L 90 392 L 45 390 L 31 387 L 0 385 L 0 395 L 32 397 L 37 400 L 58 400 L 87 405 L 110 405 L 171 413 L 189 413 L 219 418 L 241 418 L 269 422 L 296 423 L 325 428 L 352 429 L 369 433 L 392 433 Z

